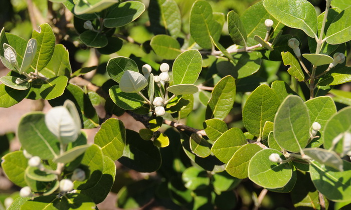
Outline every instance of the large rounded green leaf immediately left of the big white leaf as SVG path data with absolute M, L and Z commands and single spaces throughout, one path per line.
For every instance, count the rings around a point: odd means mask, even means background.
M 22 117 L 18 127 L 22 147 L 42 159 L 51 159 L 60 153 L 60 143 L 45 125 L 45 115 L 32 112 Z

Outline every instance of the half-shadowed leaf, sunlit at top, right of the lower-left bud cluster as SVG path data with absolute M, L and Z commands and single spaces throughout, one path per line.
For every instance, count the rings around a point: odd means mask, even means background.
M 108 156 L 103 156 L 104 169 L 102 176 L 94 186 L 80 190 L 81 194 L 90 197 L 95 203 L 102 202 L 110 192 L 116 176 L 116 165 Z

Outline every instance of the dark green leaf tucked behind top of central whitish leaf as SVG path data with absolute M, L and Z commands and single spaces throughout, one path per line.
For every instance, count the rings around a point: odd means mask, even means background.
M 127 70 L 139 72 L 138 66 L 133 60 L 122 56 L 111 58 L 106 67 L 108 75 L 118 83 L 120 82 L 123 73 Z

